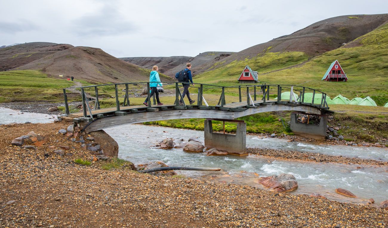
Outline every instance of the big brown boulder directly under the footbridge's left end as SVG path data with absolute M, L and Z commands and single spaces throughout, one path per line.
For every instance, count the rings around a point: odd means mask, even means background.
M 100 145 L 100 148 L 104 150 L 104 155 L 108 157 L 117 157 L 119 153 L 119 145 L 117 142 L 105 131 L 93 131 L 89 133 L 94 141 Z

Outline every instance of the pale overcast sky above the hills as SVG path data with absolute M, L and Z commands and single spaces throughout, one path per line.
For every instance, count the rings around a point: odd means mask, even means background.
M 241 51 L 329 17 L 388 13 L 387 0 L 1 0 L 0 46 L 52 42 L 116 57 Z

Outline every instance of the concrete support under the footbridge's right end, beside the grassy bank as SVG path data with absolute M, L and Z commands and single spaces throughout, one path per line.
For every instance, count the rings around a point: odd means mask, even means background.
M 297 136 L 323 141 L 326 138 L 326 125 L 327 116 L 321 116 L 319 125 L 315 125 L 297 123 L 296 113 L 291 113 L 290 129 Z

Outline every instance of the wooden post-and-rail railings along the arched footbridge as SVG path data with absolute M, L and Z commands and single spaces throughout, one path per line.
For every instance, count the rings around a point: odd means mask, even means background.
M 121 107 L 130 106 L 130 96 L 129 96 L 129 87 L 130 86 L 146 86 L 147 89 L 147 100 L 148 107 L 152 108 L 152 105 L 156 105 L 155 97 L 153 97 L 153 102 L 151 102 L 151 90 L 150 83 L 157 82 L 128 82 L 128 83 L 115 83 L 115 84 L 103 84 L 103 85 L 89 85 L 83 87 L 76 87 L 75 89 L 80 89 L 81 91 L 81 100 L 82 100 L 82 112 L 83 117 L 93 118 L 92 110 L 100 109 L 100 95 L 99 90 L 103 90 L 106 87 L 114 87 L 114 100 L 116 112 L 120 112 Z M 221 85 L 211 85 L 204 83 L 182 83 L 182 82 L 162 82 L 163 86 L 169 88 L 175 88 L 175 99 L 172 105 L 176 107 L 187 108 L 187 104 L 183 99 L 181 92 L 181 87 L 184 84 L 189 84 L 189 89 L 191 92 L 197 92 L 197 101 L 195 104 L 190 104 L 190 106 L 197 107 L 224 107 L 227 104 L 241 102 L 243 106 L 257 106 L 257 104 L 262 103 L 266 104 L 268 102 L 286 102 L 287 104 L 305 104 L 305 105 L 314 105 L 319 108 L 328 108 L 326 102 L 326 93 L 323 93 L 319 90 L 313 88 L 303 87 L 300 85 L 266 85 L 266 84 L 249 84 L 249 85 L 234 85 L 234 86 L 221 86 Z M 121 88 L 123 89 L 121 89 Z M 63 89 L 64 102 L 65 102 L 65 113 L 70 114 L 68 97 L 66 90 Z M 73 88 L 74 89 L 74 88 Z M 85 90 L 94 92 L 94 97 L 88 95 Z M 120 91 L 123 91 L 123 95 Z M 206 93 L 208 91 L 208 93 Z M 211 91 L 211 92 L 209 92 Z M 217 92 L 216 94 L 215 91 Z M 120 93 L 119 93 L 120 92 Z M 286 92 L 285 94 L 282 94 Z M 287 92 L 289 95 L 287 96 Z M 210 97 L 212 95 L 212 97 Z M 238 95 L 238 99 L 237 99 Z M 218 97 L 219 96 L 219 97 Z M 123 102 L 120 102 L 120 97 L 123 97 Z M 206 100 L 205 99 L 208 99 Z M 214 98 L 218 99 L 218 102 Z M 88 98 L 94 98 L 94 107 L 88 102 Z M 310 100 L 311 99 L 311 100 Z M 180 103 L 179 101 L 183 102 Z M 246 103 L 244 103 L 246 102 Z M 152 104 L 153 103 L 153 104 Z M 285 103 L 285 104 L 286 104 Z M 246 104 L 246 105 L 245 105 Z M 167 104 L 165 104 L 167 105 Z M 155 107 L 155 106 L 154 106 Z M 149 109 L 151 110 L 151 109 Z

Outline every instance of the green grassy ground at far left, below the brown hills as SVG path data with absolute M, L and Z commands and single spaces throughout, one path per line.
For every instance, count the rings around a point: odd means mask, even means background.
M 62 88 L 74 82 L 49 77 L 38 70 L 0 72 L 0 102 L 47 100 L 63 101 Z M 71 97 L 70 97 L 71 99 Z

